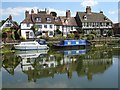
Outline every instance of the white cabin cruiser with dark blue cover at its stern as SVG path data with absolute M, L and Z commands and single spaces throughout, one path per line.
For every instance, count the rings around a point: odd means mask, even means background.
M 14 45 L 17 50 L 44 50 L 49 49 L 44 39 L 36 41 L 21 42 L 18 45 Z

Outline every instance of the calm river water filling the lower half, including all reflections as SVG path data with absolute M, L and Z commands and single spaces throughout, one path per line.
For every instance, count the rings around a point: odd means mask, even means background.
M 2 56 L 3 88 L 118 88 L 119 50 L 16 51 Z

